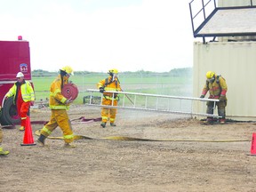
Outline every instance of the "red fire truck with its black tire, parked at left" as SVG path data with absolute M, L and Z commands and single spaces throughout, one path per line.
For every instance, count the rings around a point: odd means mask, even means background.
M 16 75 L 20 71 L 26 81 L 31 82 L 28 41 L 23 41 L 21 36 L 18 36 L 17 41 L 0 41 L 0 123 L 2 125 L 20 124 L 20 116 L 13 98 L 4 100 L 4 95 L 17 81 Z

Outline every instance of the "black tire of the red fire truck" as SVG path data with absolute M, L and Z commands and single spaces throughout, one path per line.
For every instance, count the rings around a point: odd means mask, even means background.
M 20 124 L 20 116 L 18 116 L 17 108 L 13 104 L 13 97 L 4 100 L 0 121 L 2 125 Z

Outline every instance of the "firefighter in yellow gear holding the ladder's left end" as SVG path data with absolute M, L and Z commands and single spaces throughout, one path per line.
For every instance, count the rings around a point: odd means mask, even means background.
M 118 70 L 117 69 L 110 69 L 108 71 L 108 78 L 102 79 L 98 84 L 97 87 L 100 89 L 100 92 L 103 93 L 102 105 L 108 106 L 117 106 L 117 102 L 119 100 L 118 95 L 115 93 L 113 97 L 113 93 L 105 92 L 105 91 L 115 91 L 121 92 L 120 82 L 117 78 Z M 106 124 L 109 120 L 111 126 L 116 126 L 116 108 L 102 108 L 101 109 L 101 126 L 103 128 L 106 127 Z

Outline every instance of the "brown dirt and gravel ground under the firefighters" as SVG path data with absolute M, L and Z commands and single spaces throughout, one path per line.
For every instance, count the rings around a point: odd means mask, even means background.
M 48 108 L 31 121 L 48 121 Z M 100 108 L 73 106 L 70 119 L 96 119 Z M 256 191 L 256 156 L 249 156 L 253 123 L 204 125 L 188 116 L 118 109 L 116 127 L 73 121 L 76 148 L 47 139 L 20 146 L 19 126 L 4 129 L 0 191 Z M 33 137 L 42 124 L 32 124 Z M 57 128 L 52 136 L 61 136 Z M 117 140 L 129 137 L 148 140 Z

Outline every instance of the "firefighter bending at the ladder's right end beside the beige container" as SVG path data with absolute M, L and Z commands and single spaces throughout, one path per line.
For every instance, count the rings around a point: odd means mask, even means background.
M 203 91 L 200 98 L 204 98 L 206 93 L 209 91 L 209 99 L 220 100 L 216 102 L 218 107 L 218 115 L 220 116 L 220 124 L 225 124 L 226 120 L 226 106 L 227 106 L 227 96 L 228 86 L 226 80 L 222 76 L 216 76 L 214 72 L 208 71 L 206 73 L 206 83 L 204 84 Z M 214 101 L 207 101 L 207 114 L 213 114 Z M 211 116 L 207 117 L 207 123 L 212 124 L 213 118 Z

